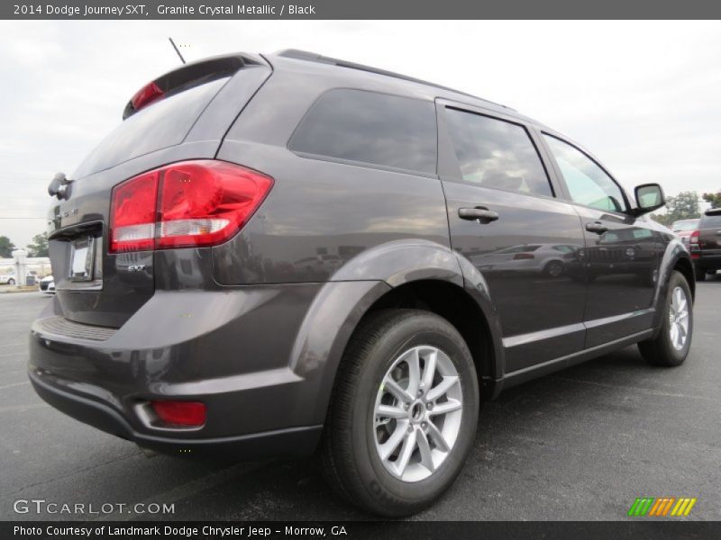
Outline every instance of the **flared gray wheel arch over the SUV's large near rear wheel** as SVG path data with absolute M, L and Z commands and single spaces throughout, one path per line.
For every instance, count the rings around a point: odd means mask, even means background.
M 353 332 L 361 320 L 388 307 L 420 307 L 451 322 L 473 355 L 481 397 L 496 397 L 503 347 L 485 279 L 450 247 L 419 239 L 394 241 L 342 266 L 316 294 L 298 329 L 289 364 L 311 383 L 315 421 L 324 422 Z

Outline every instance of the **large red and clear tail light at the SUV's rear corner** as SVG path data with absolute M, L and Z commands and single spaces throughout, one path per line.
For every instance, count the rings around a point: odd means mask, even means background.
M 115 186 L 110 251 L 213 246 L 251 219 L 273 185 L 225 161 L 182 161 Z

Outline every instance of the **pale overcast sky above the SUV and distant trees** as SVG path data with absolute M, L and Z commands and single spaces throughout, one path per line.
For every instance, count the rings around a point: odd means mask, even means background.
M 52 175 L 178 66 L 169 36 L 187 60 L 295 48 L 427 79 L 566 133 L 626 187 L 721 189 L 717 22 L 0 22 L 0 236 L 44 230 Z

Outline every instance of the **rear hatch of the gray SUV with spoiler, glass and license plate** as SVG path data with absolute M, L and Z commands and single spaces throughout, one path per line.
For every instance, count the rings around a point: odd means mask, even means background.
M 109 253 L 114 186 L 169 163 L 215 157 L 269 74 L 260 57 L 209 58 L 158 77 L 132 97 L 123 122 L 53 196 L 48 229 L 59 315 L 120 328 L 151 298 L 154 252 Z

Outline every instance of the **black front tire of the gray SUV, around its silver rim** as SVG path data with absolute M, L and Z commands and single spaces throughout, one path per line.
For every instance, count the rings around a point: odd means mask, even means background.
M 686 295 L 689 311 L 689 330 L 683 347 L 677 349 L 671 343 L 671 295 L 673 291 L 680 287 Z M 693 301 L 691 300 L 691 290 L 686 278 L 675 270 L 671 273 L 669 287 L 666 292 L 666 298 L 663 301 L 662 325 L 658 335 L 653 339 L 642 341 L 638 344 L 641 355 L 651 365 L 662 365 L 664 367 L 673 367 L 683 364 L 686 356 L 689 356 L 689 348 L 693 338 Z

